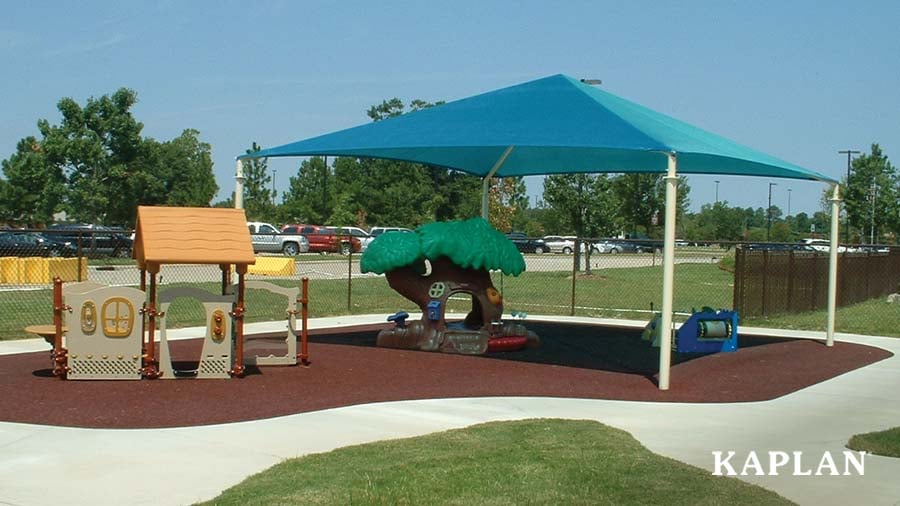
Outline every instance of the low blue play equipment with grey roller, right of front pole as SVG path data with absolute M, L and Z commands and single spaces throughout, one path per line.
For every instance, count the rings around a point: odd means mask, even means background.
M 705 307 L 691 314 L 675 333 L 679 353 L 737 351 L 737 311 Z

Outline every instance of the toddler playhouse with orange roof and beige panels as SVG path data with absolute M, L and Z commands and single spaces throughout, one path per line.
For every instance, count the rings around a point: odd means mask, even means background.
M 308 363 L 307 280 L 303 280 L 302 298 L 297 288 L 245 281 L 248 266 L 256 259 L 243 210 L 140 206 L 134 256 L 141 273 L 140 288 L 54 282 L 54 375 L 67 379 L 230 378 L 242 376 L 245 365 Z M 218 265 L 220 293 L 191 286 L 158 293 L 165 264 Z M 232 284 L 233 274 L 236 284 Z M 248 283 L 288 299 L 284 347 L 276 354 L 244 355 Z M 199 301 L 205 314 L 202 351 L 197 368 L 190 371 L 176 369 L 167 335 L 166 313 L 179 298 Z M 303 306 L 299 356 L 298 302 Z

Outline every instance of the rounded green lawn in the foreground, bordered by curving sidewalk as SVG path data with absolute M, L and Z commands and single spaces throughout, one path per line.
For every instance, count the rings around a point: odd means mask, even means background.
M 494 422 L 278 464 L 205 504 L 792 504 L 593 421 Z

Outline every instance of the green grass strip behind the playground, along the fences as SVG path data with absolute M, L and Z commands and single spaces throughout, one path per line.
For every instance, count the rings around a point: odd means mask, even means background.
M 594 270 L 579 274 L 575 285 L 575 315 L 606 318 L 650 320 L 651 307 L 658 311 L 662 295 L 662 268 L 637 267 Z M 297 280 L 274 280 L 282 286 L 299 286 Z M 730 308 L 732 274 L 715 264 L 681 264 L 675 269 L 676 311 L 690 312 L 703 306 Z M 525 272 L 519 277 L 494 275 L 494 284 L 504 294 L 504 306 L 510 311 L 531 314 L 569 315 L 572 305 L 571 272 Z M 166 285 L 171 287 L 175 285 Z M 217 293 L 217 282 L 192 286 Z M 398 310 L 418 311 L 411 302 L 392 290 L 383 277 L 310 280 L 310 317 L 344 314 L 391 314 Z M 280 296 L 258 290 L 246 295 L 247 322 L 285 318 L 286 301 Z M 28 325 L 53 321 L 52 292 L 49 288 L 0 291 L 0 340 L 29 336 L 22 329 Z M 453 301 L 451 312 L 466 312 L 470 303 Z M 178 300 L 168 312 L 171 328 L 203 324 L 199 302 Z M 677 319 L 677 318 L 676 318 Z M 742 325 L 799 330 L 824 330 L 825 311 L 742 318 Z M 900 337 L 900 311 L 879 298 L 838 308 L 837 331 L 868 335 Z

